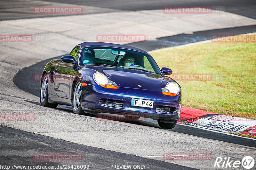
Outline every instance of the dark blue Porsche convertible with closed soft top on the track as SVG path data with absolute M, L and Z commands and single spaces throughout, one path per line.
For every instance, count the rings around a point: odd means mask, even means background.
M 145 51 L 135 47 L 84 42 L 61 60 L 52 60 L 41 77 L 40 103 L 73 106 L 76 114 L 129 114 L 172 129 L 181 111 L 180 85 L 165 75 Z

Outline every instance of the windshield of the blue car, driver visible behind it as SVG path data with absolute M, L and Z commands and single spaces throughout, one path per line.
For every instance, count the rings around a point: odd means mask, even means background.
M 120 48 L 84 47 L 80 65 L 102 65 L 160 74 L 160 69 L 151 56 Z

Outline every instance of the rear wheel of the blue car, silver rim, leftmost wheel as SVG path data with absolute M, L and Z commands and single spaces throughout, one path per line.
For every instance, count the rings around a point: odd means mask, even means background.
M 45 87 L 45 83 L 47 83 L 47 87 Z M 42 75 L 41 79 L 41 88 L 40 88 L 40 103 L 44 107 L 51 107 L 51 108 L 56 108 L 58 104 L 52 104 L 48 102 L 48 77 L 47 74 Z

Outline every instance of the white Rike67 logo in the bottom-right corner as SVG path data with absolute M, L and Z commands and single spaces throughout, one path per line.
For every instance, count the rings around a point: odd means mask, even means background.
M 251 156 L 245 156 L 242 161 L 240 160 L 231 160 L 230 157 L 217 157 L 214 163 L 214 168 L 238 168 L 243 166 L 245 169 L 251 169 L 254 166 L 254 159 Z

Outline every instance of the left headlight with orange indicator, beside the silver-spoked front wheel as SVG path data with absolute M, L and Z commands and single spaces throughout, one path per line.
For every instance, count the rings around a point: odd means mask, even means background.
M 108 89 L 118 89 L 118 86 L 115 82 L 110 81 L 108 77 L 106 77 L 102 73 L 94 73 L 93 79 L 99 84 L 101 87 L 108 88 Z

